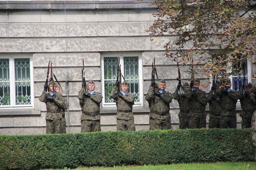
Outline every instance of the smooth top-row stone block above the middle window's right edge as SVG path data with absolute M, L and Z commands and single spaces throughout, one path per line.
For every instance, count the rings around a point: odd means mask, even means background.
M 128 20 L 129 21 L 150 21 L 151 13 L 150 10 L 129 10 Z

